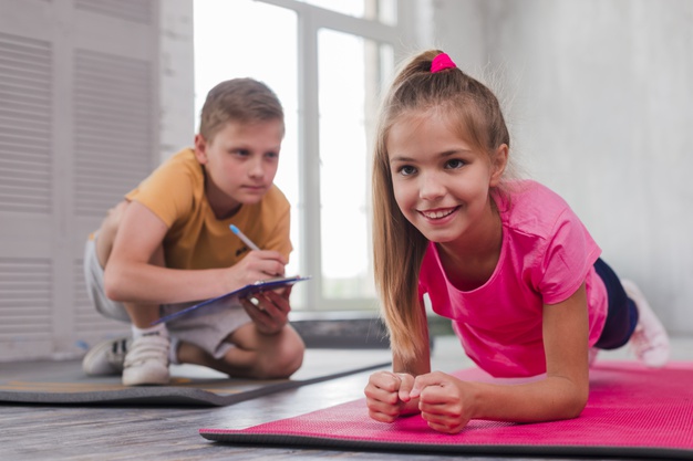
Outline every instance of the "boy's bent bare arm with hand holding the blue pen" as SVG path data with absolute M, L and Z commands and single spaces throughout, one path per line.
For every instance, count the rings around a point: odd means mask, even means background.
M 127 206 L 104 268 L 110 298 L 156 304 L 199 301 L 283 273 L 283 256 L 271 251 L 251 252 L 228 269 L 178 270 L 153 264 L 167 231 L 164 221 L 142 203 Z

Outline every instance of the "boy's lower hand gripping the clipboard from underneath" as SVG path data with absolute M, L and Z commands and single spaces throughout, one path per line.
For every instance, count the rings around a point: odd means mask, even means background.
M 291 287 L 292 285 L 281 290 L 268 290 L 240 300 L 260 333 L 275 335 L 289 323 Z

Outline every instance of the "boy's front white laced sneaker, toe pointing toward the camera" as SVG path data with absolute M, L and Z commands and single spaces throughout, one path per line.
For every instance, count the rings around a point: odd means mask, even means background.
M 148 334 L 133 340 L 125 355 L 123 385 L 165 385 L 168 384 L 168 348 L 167 335 Z

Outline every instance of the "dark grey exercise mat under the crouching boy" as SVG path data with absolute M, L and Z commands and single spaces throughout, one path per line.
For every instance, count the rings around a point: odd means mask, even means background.
M 80 362 L 1 364 L 0 402 L 226 406 L 285 389 L 387 367 L 390 353 L 308 349 L 291 379 L 229 379 L 207 368 L 172 366 L 170 386 L 125 387 L 120 376 L 87 377 Z

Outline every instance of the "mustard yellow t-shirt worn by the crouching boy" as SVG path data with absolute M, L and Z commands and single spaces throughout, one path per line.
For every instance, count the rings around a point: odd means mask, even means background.
M 276 250 L 289 258 L 290 206 L 277 186 L 261 201 L 241 205 L 231 218 L 219 220 L 205 195 L 205 174 L 192 148 L 162 164 L 139 186 L 125 196 L 137 201 L 168 227 L 164 238 L 166 266 L 173 269 L 228 268 L 248 252 L 231 232 L 238 227 L 263 250 Z

